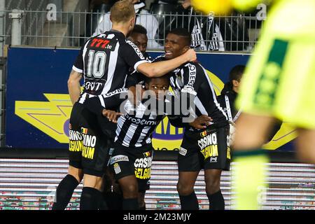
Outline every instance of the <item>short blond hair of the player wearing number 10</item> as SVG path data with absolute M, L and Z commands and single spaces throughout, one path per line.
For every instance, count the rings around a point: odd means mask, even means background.
M 117 1 L 111 7 L 112 22 L 128 22 L 135 15 L 134 5 L 130 3 L 130 0 Z

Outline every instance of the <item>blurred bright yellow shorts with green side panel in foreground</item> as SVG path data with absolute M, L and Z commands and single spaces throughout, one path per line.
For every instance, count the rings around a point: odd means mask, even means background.
M 264 25 L 237 107 L 315 129 L 315 1 L 280 1 Z

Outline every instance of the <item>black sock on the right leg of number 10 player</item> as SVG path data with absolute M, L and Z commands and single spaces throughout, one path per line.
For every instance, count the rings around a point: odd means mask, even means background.
M 80 210 L 97 210 L 102 202 L 102 193 L 95 189 L 84 187 L 80 198 Z

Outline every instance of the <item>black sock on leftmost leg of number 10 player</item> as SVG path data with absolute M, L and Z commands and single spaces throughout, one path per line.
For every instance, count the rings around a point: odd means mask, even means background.
M 66 175 L 59 183 L 56 190 L 55 202 L 52 204 L 52 210 L 64 210 L 71 200 L 73 190 L 78 186 L 76 178 L 70 174 Z

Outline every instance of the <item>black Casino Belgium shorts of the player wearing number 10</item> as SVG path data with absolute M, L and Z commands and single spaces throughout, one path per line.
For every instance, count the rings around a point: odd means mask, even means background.
M 107 132 L 104 127 L 108 128 Z M 69 165 L 83 169 L 84 174 L 103 176 L 109 160 L 113 125 L 101 114 L 73 105 L 69 123 Z

